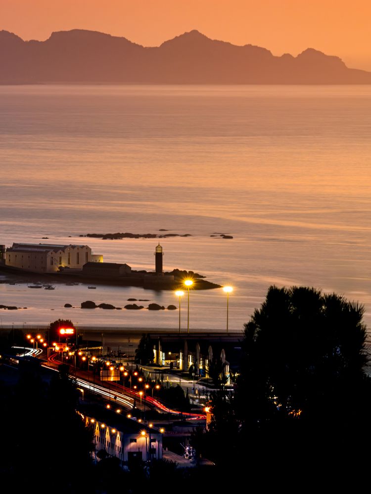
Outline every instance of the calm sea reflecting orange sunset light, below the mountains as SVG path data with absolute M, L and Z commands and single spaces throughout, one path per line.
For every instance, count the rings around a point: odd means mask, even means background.
M 0 244 L 86 243 L 153 269 L 155 240 L 79 235 L 163 228 L 191 235 L 160 241 L 165 269 L 234 287 L 231 330 L 272 284 L 344 294 L 371 326 L 371 86 L 0 86 L 0 116 Z M 178 327 L 178 311 L 63 307 L 129 297 L 178 304 L 170 291 L 0 284 L 0 304 L 28 307 L 1 310 L 0 326 Z M 181 315 L 184 328 L 186 299 Z M 191 330 L 225 326 L 221 289 L 190 293 Z

